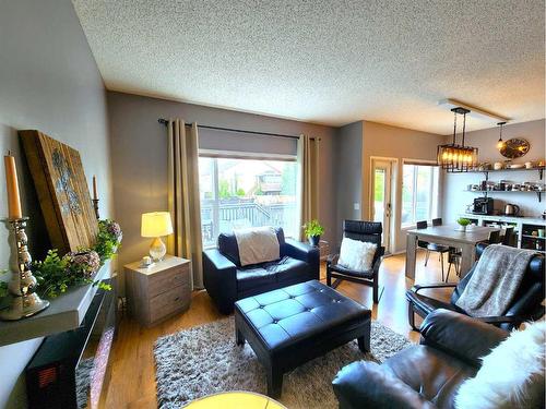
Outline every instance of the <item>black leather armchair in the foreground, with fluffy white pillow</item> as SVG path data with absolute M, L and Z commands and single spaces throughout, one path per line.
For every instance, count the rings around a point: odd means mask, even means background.
M 353 362 L 332 382 L 340 409 L 453 408 L 459 386 L 509 333 L 448 310 L 430 313 L 420 345 L 382 364 Z

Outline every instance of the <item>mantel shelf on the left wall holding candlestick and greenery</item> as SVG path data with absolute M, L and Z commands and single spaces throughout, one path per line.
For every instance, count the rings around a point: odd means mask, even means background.
M 109 276 L 110 263 L 106 262 L 94 280 Z M 78 328 L 97 289 L 97 286 L 91 284 L 74 287 L 57 298 L 49 299 L 49 308 L 34 316 L 19 321 L 0 321 L 0 347 Z

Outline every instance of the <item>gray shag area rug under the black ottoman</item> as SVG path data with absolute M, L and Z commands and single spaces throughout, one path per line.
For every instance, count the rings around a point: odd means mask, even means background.
M 157 339 L 154 346 L 157 401 L 162 409 L 219 392 L 250 390 L 265 395 L 265 372 L 248 345 L 235 344 L 233 316 Z M 286 373 L 278 399 L 289 409 L 337 408 L 332 380 L 344 365 L 382 362 L 412 345 L 407 338 L 371 322 L 371 352 L 356 340 Z

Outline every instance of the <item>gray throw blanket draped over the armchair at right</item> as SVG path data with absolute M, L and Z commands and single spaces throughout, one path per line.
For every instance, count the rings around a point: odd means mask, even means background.
M 488 245 L 455 304 L 471 316 L 505 314 L 534 254 L 531 250 Z

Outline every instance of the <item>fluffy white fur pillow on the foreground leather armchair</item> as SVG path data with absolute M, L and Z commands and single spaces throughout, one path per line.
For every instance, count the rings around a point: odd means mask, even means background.
M 465 381 L 455 397 L 458 409 L 544 407 L 546 322 L 514 330 L 482 358 L 476 376 Z

